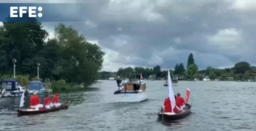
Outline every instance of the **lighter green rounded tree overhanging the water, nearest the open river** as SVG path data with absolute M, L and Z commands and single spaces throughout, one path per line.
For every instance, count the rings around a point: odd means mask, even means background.
M 77 30 L 64 24 L 55 27 L 55 35 L 62 56 L 57 67 L 60 72 L 57 75 L 65 78 L 72 85 L 93 84 L 99 77 L 98 71 L 102 68 L 105 55 L 101 48 L 86 42 L 85 37 Z

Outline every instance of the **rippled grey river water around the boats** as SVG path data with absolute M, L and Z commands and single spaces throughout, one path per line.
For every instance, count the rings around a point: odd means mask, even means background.
M 115 81 L 100 81 L 86 92 L 61 94 L 67 110 L 17 117 L 20 98 L 0 98 L 0 131 L 255 131 L 256 83 L 179 81 L 174 92 L 190 88 L 192 114 L 175 123 L 157 120 L 167 96 L 164 81 L 147 81 L 148 97 L 139 103 L 109 103 Z M 26 98 L 28 100 L 29 98 Z M 28 106 L 28 103 L 26 103 Z

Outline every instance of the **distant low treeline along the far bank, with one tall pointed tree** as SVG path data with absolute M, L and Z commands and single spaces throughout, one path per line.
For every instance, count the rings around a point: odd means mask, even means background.
M 165 67 L 166 68 L 166 67 Z M 146 79 L 166 79 L 167 70 L 162 70 L 159 65 L 153 68 L 144 67 L 126 67 L 120 68 L 116 72 L 100 72 L 100 79 L 108 79 L 109 77 L 123 77 L 128 78 L 135 72 L 142 73 Z M 183 63 L 176 64 L 174 70 L 170 70 L 172 76 L 179 77 L 183 80 L 202 80 L 204 77 L 208 77 L 211 80 L 247 80 L 254 79 L 256 75 L 256 67 L 251 66 L 248 62 L 238 62 L 232 68 L 216 69 L 213 67 L 207 67 L 204 70 L 199 71 L 195 64 L 193 54 L 190 53 L 187 59 L 187 68 L 185 69 Z M 133 77 L 133 76 L 132 76 Z

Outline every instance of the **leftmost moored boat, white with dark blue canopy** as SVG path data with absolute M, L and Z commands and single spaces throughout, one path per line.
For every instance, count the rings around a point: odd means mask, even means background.
M 0 82 L 0 97 L 19 97 L 24 91 L 16 79 L 3 79 Z

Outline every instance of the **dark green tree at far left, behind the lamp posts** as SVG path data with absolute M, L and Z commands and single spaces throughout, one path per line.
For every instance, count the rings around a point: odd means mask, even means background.
M 41 50 L 48 33 L 42 29 L 41 22 L 3 22 L 1 42 L 1 69 L 2 73 L 12 72 L 12 59 L 16 58 L 16 73 L 36 74 L 36 62 L 46 65 L 38 50 Z

